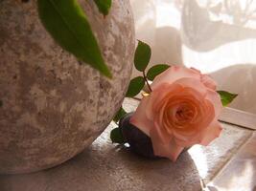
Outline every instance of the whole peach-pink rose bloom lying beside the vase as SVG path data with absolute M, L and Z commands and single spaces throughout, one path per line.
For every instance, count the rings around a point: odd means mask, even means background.
M 151 89 L 129 122 L 151 138 L 154 155 L 175 161 L 184 148 L 220 136 L 221 97 L 210 76 L 172 66 L 155 77 Z

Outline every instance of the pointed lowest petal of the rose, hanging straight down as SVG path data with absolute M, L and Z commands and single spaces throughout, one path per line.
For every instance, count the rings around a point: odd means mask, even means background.
M 165 157 L 175 161 L 179 154 L 183 151 L 184 147 L 179 146 L 175 143 L 172 138 L 167 144 L 162 144 L 156 137 L 155 134 L 151 133 L 153 153 L 155 156 Z

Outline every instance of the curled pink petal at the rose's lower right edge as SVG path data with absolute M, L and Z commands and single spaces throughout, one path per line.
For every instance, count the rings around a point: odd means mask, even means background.
M 218 120 L 214 120 L 206 129 L 204 135 L 202 135 L 200 144 L 203 146 L 207 146 L 212 140 L 220 136 L 221 130 L 221 123 Z

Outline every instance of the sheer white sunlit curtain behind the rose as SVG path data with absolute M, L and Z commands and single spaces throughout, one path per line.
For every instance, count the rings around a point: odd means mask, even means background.
M 136 37 L 151 45 L 151 65 L 211 74 L 220 90 L 239 94 L 231 107 L 256 114 L 256 0 L 130 2 Z

